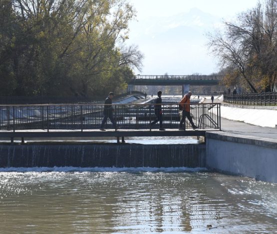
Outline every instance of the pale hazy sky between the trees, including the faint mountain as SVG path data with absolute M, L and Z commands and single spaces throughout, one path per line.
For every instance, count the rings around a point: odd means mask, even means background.
M 127 44 L 144 54 L 140 75 L 209 75 L 219 71 L 206 34 L 258 0 L 127 0 L 137 10 Z M 263 0 L 261 0 L 263 2 Z

